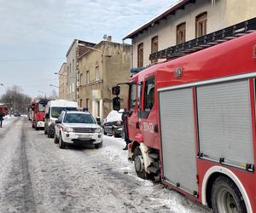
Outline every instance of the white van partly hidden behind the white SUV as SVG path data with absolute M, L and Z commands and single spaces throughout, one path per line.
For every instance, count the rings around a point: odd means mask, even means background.
M 44 134 L 48 137 L 55 135 L 55 121 L 59 118 L 63 110 L 76 110 L 78 103 L 76 101 L 55 100 L 48 101 L 45 109 Z

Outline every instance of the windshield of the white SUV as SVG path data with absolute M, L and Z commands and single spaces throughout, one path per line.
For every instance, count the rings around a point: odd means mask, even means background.
M 63 123 L 96 124 L 96 121 L 90 114 L 67 113 Z

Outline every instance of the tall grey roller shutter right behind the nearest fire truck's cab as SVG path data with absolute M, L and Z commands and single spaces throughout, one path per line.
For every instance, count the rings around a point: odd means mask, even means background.
M 191 88 L 160 91 L 160 126 L 164 180 L 188 193 L 198 192 Z

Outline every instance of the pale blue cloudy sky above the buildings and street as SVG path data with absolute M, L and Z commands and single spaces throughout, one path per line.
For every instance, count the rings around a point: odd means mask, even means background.
M 19 85 L 47 95 L 74 38 L 99 43 L 104 34 L 121 43 L 177 0 L 0 0 L 0 95 Z M 41 91 L 41 92 L 38 92 Z

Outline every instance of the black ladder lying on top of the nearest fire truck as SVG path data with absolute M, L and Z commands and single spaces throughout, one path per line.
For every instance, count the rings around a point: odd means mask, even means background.
M 256 18 L 246 20 L 234 26 L 226 27 L 222 30 L 209 33 L 202 37 L 197 37 L 188 42 L 177 44 L 167 49 L 160 50 L 149 55 L 149 60 L 166 59 L 172 60 L 184 55 L 189 55 L 207 49 L 218 43 L 224 43 L 236 37 L 244 36 L 248 33 L 256 32 Z

